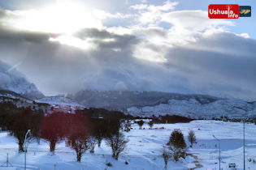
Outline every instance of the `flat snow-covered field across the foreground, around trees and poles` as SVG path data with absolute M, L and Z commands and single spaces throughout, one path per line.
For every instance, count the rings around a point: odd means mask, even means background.
M 228 169 L 229 163 L 236 163 L 238 169 L 243 168 L 243 125 L 241 123 L 223 121 L 192 121 L 190 123 L 178 124 L 158 124 L 154 125 L 154 130 L 149 130 L 148 125 L 144 125 L 145 130 L 139 130 L 133 124 L 132 130 L 124 134 L 128 137 L 128 147 L 119 156 L 119 160 L 111 158 L 111 149 L 102 142 L 102 147 L 95 148 L 95 153 L 87 153 L 82 157 L 81 163 L 76 163 L 76 152 L 69 147 L 65 147 L 65 142 L 56 147 L 55 155 L 48 151 L 49 146 L 41 141 L 38 145 L 33 142 L 28 147 L 27 167 L 28 169 L 56 169 L 56 170 L 76 170 L 76 169 L 163 169 L 163 158 L 161 149 L 167 143 L 171 131 L 180 129 L 187 138 L 189 130 L 194 130 L 197 135 L 197 144 L 189 148 L 189 153 L 197 156 L 198 164 L 207 169 L 219 168 L 219 146 L 213 138 L 220 139 L 221 145 L 221 168 Z M 164 129 L 160 129 L 164 127 Z M 256 125 L 245 124 L 245 155 L 246 169 L 256 169 Z M 189 145 L 189 142 L 187 142 Z M 20 154 L 15 138 L 8 136 L 7 132 L 0 133 L 0 165 L 4 164 L 9 155 L 9 161 L 15 168 L 24 167 L 24 153 Z M 169 161 L 168 169 L 189 169 L 195 168 L 195 157 L 189 156 L 177 163 Z M 249 159 L 251 161 L 249 162 Z M 128 164 L 125 164 L 125 161 Z M 106 166 L 110 162 L 111 167 Z M 0 169 L 6 169 L 1 168 Z

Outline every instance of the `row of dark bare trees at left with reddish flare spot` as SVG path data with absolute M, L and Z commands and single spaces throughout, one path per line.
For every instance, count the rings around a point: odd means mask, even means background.
M 40 142 L 42 138 L 54 154 L 56 144 L 65 141 L 67 147 L 76 151 L 77 162 L 81 161 L 85 151 L 93 153 L 96 145 L 101 147 L 103 138 L 106 145 L 111 147 L 112 157 L 118 159 L 128 142 L 119 130 L 120 119 L 123 117 L 124 113 L 96 108 L 76 110 L 75 114 L 45 114 L 42 110 L 17 108 L 11 103 L 0 104 L 0 126 L 16 138 L 20 152 L 25 151 L 24 142 Z M 28 130 L 31 133 L 25 141 Z

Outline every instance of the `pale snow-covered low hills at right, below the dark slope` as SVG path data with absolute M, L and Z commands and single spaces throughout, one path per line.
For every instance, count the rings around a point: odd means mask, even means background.
M 176 114 L 184 117 L 206 119 L 219 118 L 221 116 L 243 118 L 256 116 L 256 105 L 235 99 L 216 100 L 209 104 L 200 104 L 194 99 L 169 100 L 168 104 L 128 108 L 126 113 L 141 117 Z

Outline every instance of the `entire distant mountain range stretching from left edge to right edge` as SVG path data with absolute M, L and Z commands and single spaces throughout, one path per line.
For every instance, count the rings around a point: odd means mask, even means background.
M 256 117 L 256 102 L 206 95 L 184 95 L 159 91 L 93 91 L 82 90 L 75 95 L 44 96 L 24 75 L 0 62 L 0 98 L 20 99 L 22 106 L 50 104 L 54 107 L 106 108 L 133 116 L 180 115 L 192 118 Z M 2 101 L 1 100 L 1 101 Z M 0 101 L 0 102 L 1 102 Z M 15 101 L 15 100 L 12 100 Z M 46 105 L 46 108 L 49 108 Z M 68 109 L 69 109 L 68 108 Z

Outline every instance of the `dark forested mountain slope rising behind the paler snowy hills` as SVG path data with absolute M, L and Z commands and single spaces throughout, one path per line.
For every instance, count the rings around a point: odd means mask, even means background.
M 197 100 L 201 104 L 208 104 L 219 100 L 213 96 L 182 95 L 159 91 L 79 91 L 72 97 L 77 103 L 92 108 L 107 108 L 126 110 L 132 106 L 154 106 L 167 104 L 168 100 Z

